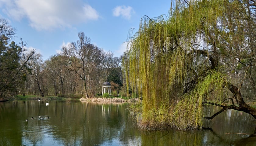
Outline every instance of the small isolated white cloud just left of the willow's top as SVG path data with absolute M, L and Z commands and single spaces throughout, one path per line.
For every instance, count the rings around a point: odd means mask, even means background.
M 122 16 L 123 18 L 130 20 L 131 15 L 134 14 L 134 10 L 130 6 L 119 5 L 113 9 L 113 15 L 116 17 Z

